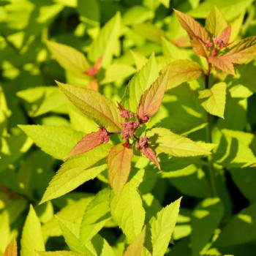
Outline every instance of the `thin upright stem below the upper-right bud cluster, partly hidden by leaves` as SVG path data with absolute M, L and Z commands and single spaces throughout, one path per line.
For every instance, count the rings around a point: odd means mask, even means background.
M 208 70 L 206 72 L 206 80 L 205 80 L 205 87 L 206 89 L 209 89 L 209 77 L 211 73 L 211 63 L 208 63 Z M 207 132 L 207 140 L 208 143 L 212 143 L 212 138 L 211 138 L 211 114 L 207 112 L 207 127 L 206 127 L 206 132 Z M 215 171 L 214 171 L 214 165 L 213 165 L 213 159 L 212 155 L 210 154 L 208 156 L 208 173 L 209 173 L 209 180 L 211 184 L 211 192 L 214 197 L 217 197 L 217 184 L 216 184 L 216 176 L 215 176 Z

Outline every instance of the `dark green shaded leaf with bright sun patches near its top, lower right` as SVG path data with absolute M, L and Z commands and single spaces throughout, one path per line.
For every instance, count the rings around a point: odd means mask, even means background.
M 193 254 L 199 254 L 214 235 L 224 214 L 224 206 L 219 198 L 206 198 L 192 212 L 191 243 Z

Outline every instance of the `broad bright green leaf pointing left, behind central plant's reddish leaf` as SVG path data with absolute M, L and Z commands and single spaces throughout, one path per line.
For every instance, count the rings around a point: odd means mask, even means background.
M 56 159 L 62 159 L 83 137 L 83 132 L 76 132 L 68 127 L 48 125 L 19 125 L 42 151 Z

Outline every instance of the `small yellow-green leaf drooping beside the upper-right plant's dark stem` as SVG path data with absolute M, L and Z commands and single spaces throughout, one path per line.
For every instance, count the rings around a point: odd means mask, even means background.
M 224 118 L 226 103 L 226 83 L 215 83 L 210 89 L 199 91 L 201 105 L 206 111 L 214 116 Z

